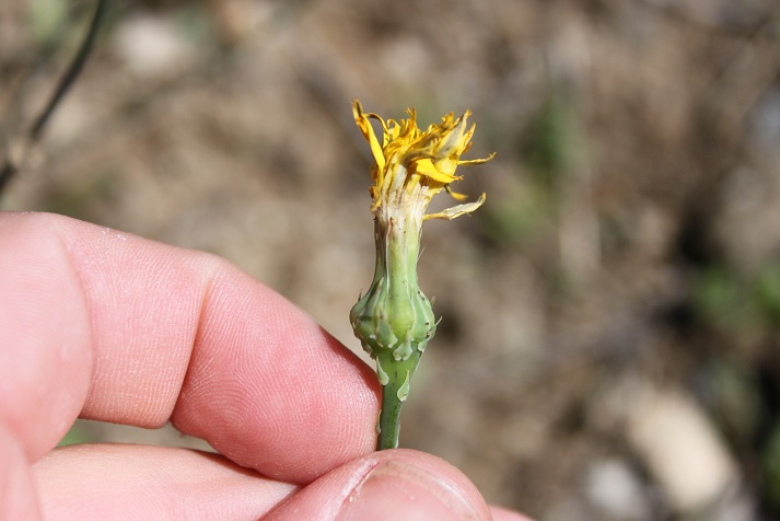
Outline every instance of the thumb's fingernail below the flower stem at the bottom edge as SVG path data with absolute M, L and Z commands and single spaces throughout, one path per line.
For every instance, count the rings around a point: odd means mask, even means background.
M 479 520 L 463 493 L 440 477 L 403 462 L 374 467 L 345 501 L 338 521 Z

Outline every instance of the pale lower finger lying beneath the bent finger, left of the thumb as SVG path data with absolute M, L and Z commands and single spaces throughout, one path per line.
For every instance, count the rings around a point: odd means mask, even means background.
M 70 445 L 33 473 L 44 519 L 66 521 L 260 519 L 295 490 L 217 454 L 148 445 Z

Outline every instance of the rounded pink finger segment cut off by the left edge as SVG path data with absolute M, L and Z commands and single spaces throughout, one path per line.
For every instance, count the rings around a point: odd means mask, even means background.
M 0 428 L 36 460 L 86 398 L 90 316 L 63 244 L 43 219 L 0 213 Z

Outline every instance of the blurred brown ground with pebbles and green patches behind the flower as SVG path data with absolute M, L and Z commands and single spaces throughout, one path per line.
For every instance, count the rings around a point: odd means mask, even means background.
M 94 3 L 0 3 L 0 160 Z M 356 96 L 422 127 L 469 108 L 467 155 L 498 152 L 456 187 L 485 207 L 424 227 L 442 322 L 404 447 L 538 520 L 780 517 L 775 0 L 116 0 L 0 208 L 213 252 L 362 356 Z M 63 442 L 90 440 L 207 447 Z

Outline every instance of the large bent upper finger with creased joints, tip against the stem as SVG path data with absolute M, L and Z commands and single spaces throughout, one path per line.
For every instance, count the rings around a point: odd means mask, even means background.
M 238 464 L 306 482 L 369 453 L 371 370 L 213 256 L 50 215 L 0 215 L 0 422 L 31 460 L 79 410 L 168 418 Z

